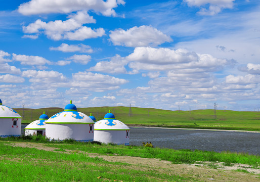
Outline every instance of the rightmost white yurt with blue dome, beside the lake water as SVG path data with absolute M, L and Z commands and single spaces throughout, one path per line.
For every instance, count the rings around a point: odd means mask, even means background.
M 129 131 L 128 126 L 116 120 L 114 114 L 109 110 L 104 119 L 95 123 L 94 141 L 128 146 Z

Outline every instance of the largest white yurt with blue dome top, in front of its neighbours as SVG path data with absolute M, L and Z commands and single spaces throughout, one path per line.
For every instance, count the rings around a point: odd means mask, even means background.
M 94 139 L 94 121 L 78 112 L 70 101 L 63 112 L 53 115 L 46 121 L 46 137 L 51 140 L 74 139 L 90 142 Z

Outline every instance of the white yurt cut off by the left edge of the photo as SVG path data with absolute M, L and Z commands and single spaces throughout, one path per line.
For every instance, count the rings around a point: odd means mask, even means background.
M 12 108 L 4 106 L 0 99 L 0 137 L 21 135 L 22 117 Z

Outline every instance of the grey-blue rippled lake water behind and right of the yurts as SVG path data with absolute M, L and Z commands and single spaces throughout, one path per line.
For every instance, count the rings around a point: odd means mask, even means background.
M 26 125 L 22 125 L 22 133 Z M 130 145 L 151 142 L 155 147 L 206 151 L 231 151 L 260 155 L 260 133 L 129 127 Z

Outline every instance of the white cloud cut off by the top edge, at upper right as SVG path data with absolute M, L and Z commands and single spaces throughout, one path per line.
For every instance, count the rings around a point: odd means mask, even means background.
M 188 6 L 200 7 L 198 14 L 200 15 L 216 15 L 223 9 L 232 9 L 235 0 L 184 0 Z M 208 9 L 203 8 L 209 4 Z

